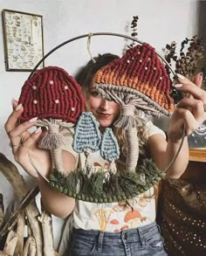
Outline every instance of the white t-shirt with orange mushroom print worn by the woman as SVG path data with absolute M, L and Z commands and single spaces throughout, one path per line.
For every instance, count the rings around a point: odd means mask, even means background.
M 165 137 L 164 132 L 148 121 L 148 137 L 161 134 Z M 72 142 L 72 139 L 71 139 Z M 77 154 L 72 149 L 72 144 L 64 148 L 75 156 L 76 165 L 85 164 L 84 154 Z M 95 169 L 107 168 L 108 162 L 100 156 L 100 151 L 91 153 L 89 162 L 93 163 Z M 84 230 L 99 230 L 102 232 L 120 232 L 124 229 L 140 227 L 148 225 L 155 220 L 155 200 L 154 188 L 142 193 L 138 197 L 128 200 L 133 207 L 121 203 L 96 204 L 76 200 L 73 210 L 74 227 Z

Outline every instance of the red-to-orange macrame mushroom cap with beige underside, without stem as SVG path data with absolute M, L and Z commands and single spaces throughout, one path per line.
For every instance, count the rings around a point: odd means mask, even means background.
M 130 104 L 129 98 L 135 98 L 131 105 L 154 117 L 174 111 L 168 73 L 154 48 L 146 43 L 103 66 L 96 74 L 95 84 L 107 100 Z

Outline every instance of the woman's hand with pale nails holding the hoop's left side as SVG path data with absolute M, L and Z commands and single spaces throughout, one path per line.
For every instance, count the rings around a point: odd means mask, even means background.
M 24 170 L 31 176 L 38 178 L 38 171 L 34 169 L 30 162 L 29 155 L 37 169 L 44 175 L 48 176 L 52 169 L 52 160 L 48 150 L 38 149 L 37 142 L 42 134 L 41 128 L 37 128 L 33 133 L 29 133 L 28 129 L 35 126 L 37 118 L 18 124 L 18 118 L 24 112 L 24 107 L 13 101 L 13 112 L 10 114 L 4 127 L 10 138 L 10 146 L 15 160 Z

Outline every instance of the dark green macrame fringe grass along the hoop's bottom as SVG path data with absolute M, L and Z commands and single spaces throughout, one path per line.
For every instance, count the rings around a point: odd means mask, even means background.
M 82 169 L 68 175 L 53 170 L 49 180 L 52 187 L 69 197 L 91 203 L 112 203 L 138 196 L 163 176 L 152 160 L 145 159 L 137 172 L 113 174 L 102 169 L 88 176 Z

